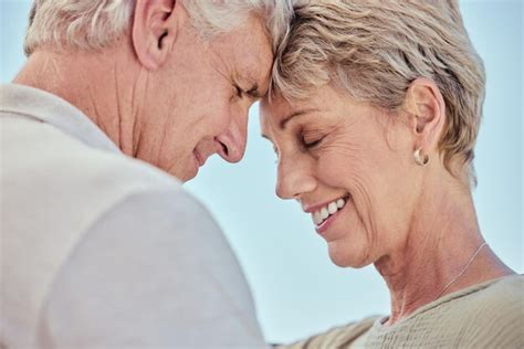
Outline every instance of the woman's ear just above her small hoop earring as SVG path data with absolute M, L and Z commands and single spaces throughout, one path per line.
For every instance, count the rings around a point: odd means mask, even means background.
M 446 103 L 437 84 L 419 77 L 408 87 L 405 108 L 409 114 L 416 148 L 436 149 L 446 125 Z

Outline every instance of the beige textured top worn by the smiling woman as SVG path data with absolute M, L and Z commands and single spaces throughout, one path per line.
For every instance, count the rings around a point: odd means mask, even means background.
M 282 348 L 524 348 L 524 276 L 441 297 L 392 326 L 370 317 Z

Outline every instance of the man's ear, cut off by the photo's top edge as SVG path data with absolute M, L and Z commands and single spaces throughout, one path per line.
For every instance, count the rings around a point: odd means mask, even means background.
M 175 15 L 176 0 L 136 0 L 133 21 L 133 45 L 138 61 L 156 71 L 167 60 L 179 23 Z

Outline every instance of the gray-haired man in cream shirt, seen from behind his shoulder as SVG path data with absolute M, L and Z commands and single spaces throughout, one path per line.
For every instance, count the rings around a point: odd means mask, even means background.
M 35 1 L 28 62 L 0 89 L 1 348 L 263 346 L 231 250 L 179 180 L 242 158 L 287 11 Z

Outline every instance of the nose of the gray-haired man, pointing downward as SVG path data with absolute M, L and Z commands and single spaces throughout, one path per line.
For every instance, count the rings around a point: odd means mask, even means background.
M 248 113 L 233 118 L 228 129 L 216 137 L 220 144 L 219 155 L 228 162 L 239 162 L 245 152 L 248 142 Z

